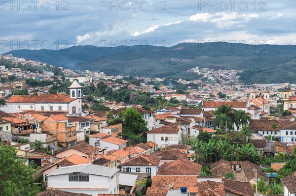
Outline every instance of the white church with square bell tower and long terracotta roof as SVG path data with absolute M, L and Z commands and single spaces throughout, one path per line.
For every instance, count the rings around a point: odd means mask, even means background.
M 84 116 L 82 112 L 82 86 L 74 81 L 69 86 L 70 96 L 66 94 L 12 95 L 1 108 L 4 112 L 65 112 L 69 116 Z

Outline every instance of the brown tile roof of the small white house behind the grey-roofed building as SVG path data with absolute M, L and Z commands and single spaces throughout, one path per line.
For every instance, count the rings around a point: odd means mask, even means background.
M 154 157 L 152 155 L 141 154 L 136 157 L 132 157 L 122 165 L 125 166 L 158 166 L 160 162 L 159 157 Z

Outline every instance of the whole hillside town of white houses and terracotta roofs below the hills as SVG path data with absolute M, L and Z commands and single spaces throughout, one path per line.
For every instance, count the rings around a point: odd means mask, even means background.
M 0 56 L 0 196 L 296 196 L 296 84 Z

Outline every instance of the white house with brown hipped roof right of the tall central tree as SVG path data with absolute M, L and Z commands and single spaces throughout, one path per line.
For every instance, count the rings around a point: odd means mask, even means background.
M 152 129 L 147 133 L 147 140 L 158 144 L 158 147 L 165 147 L 172 144 L 181 144 L 181 126 L 165 125 Z

